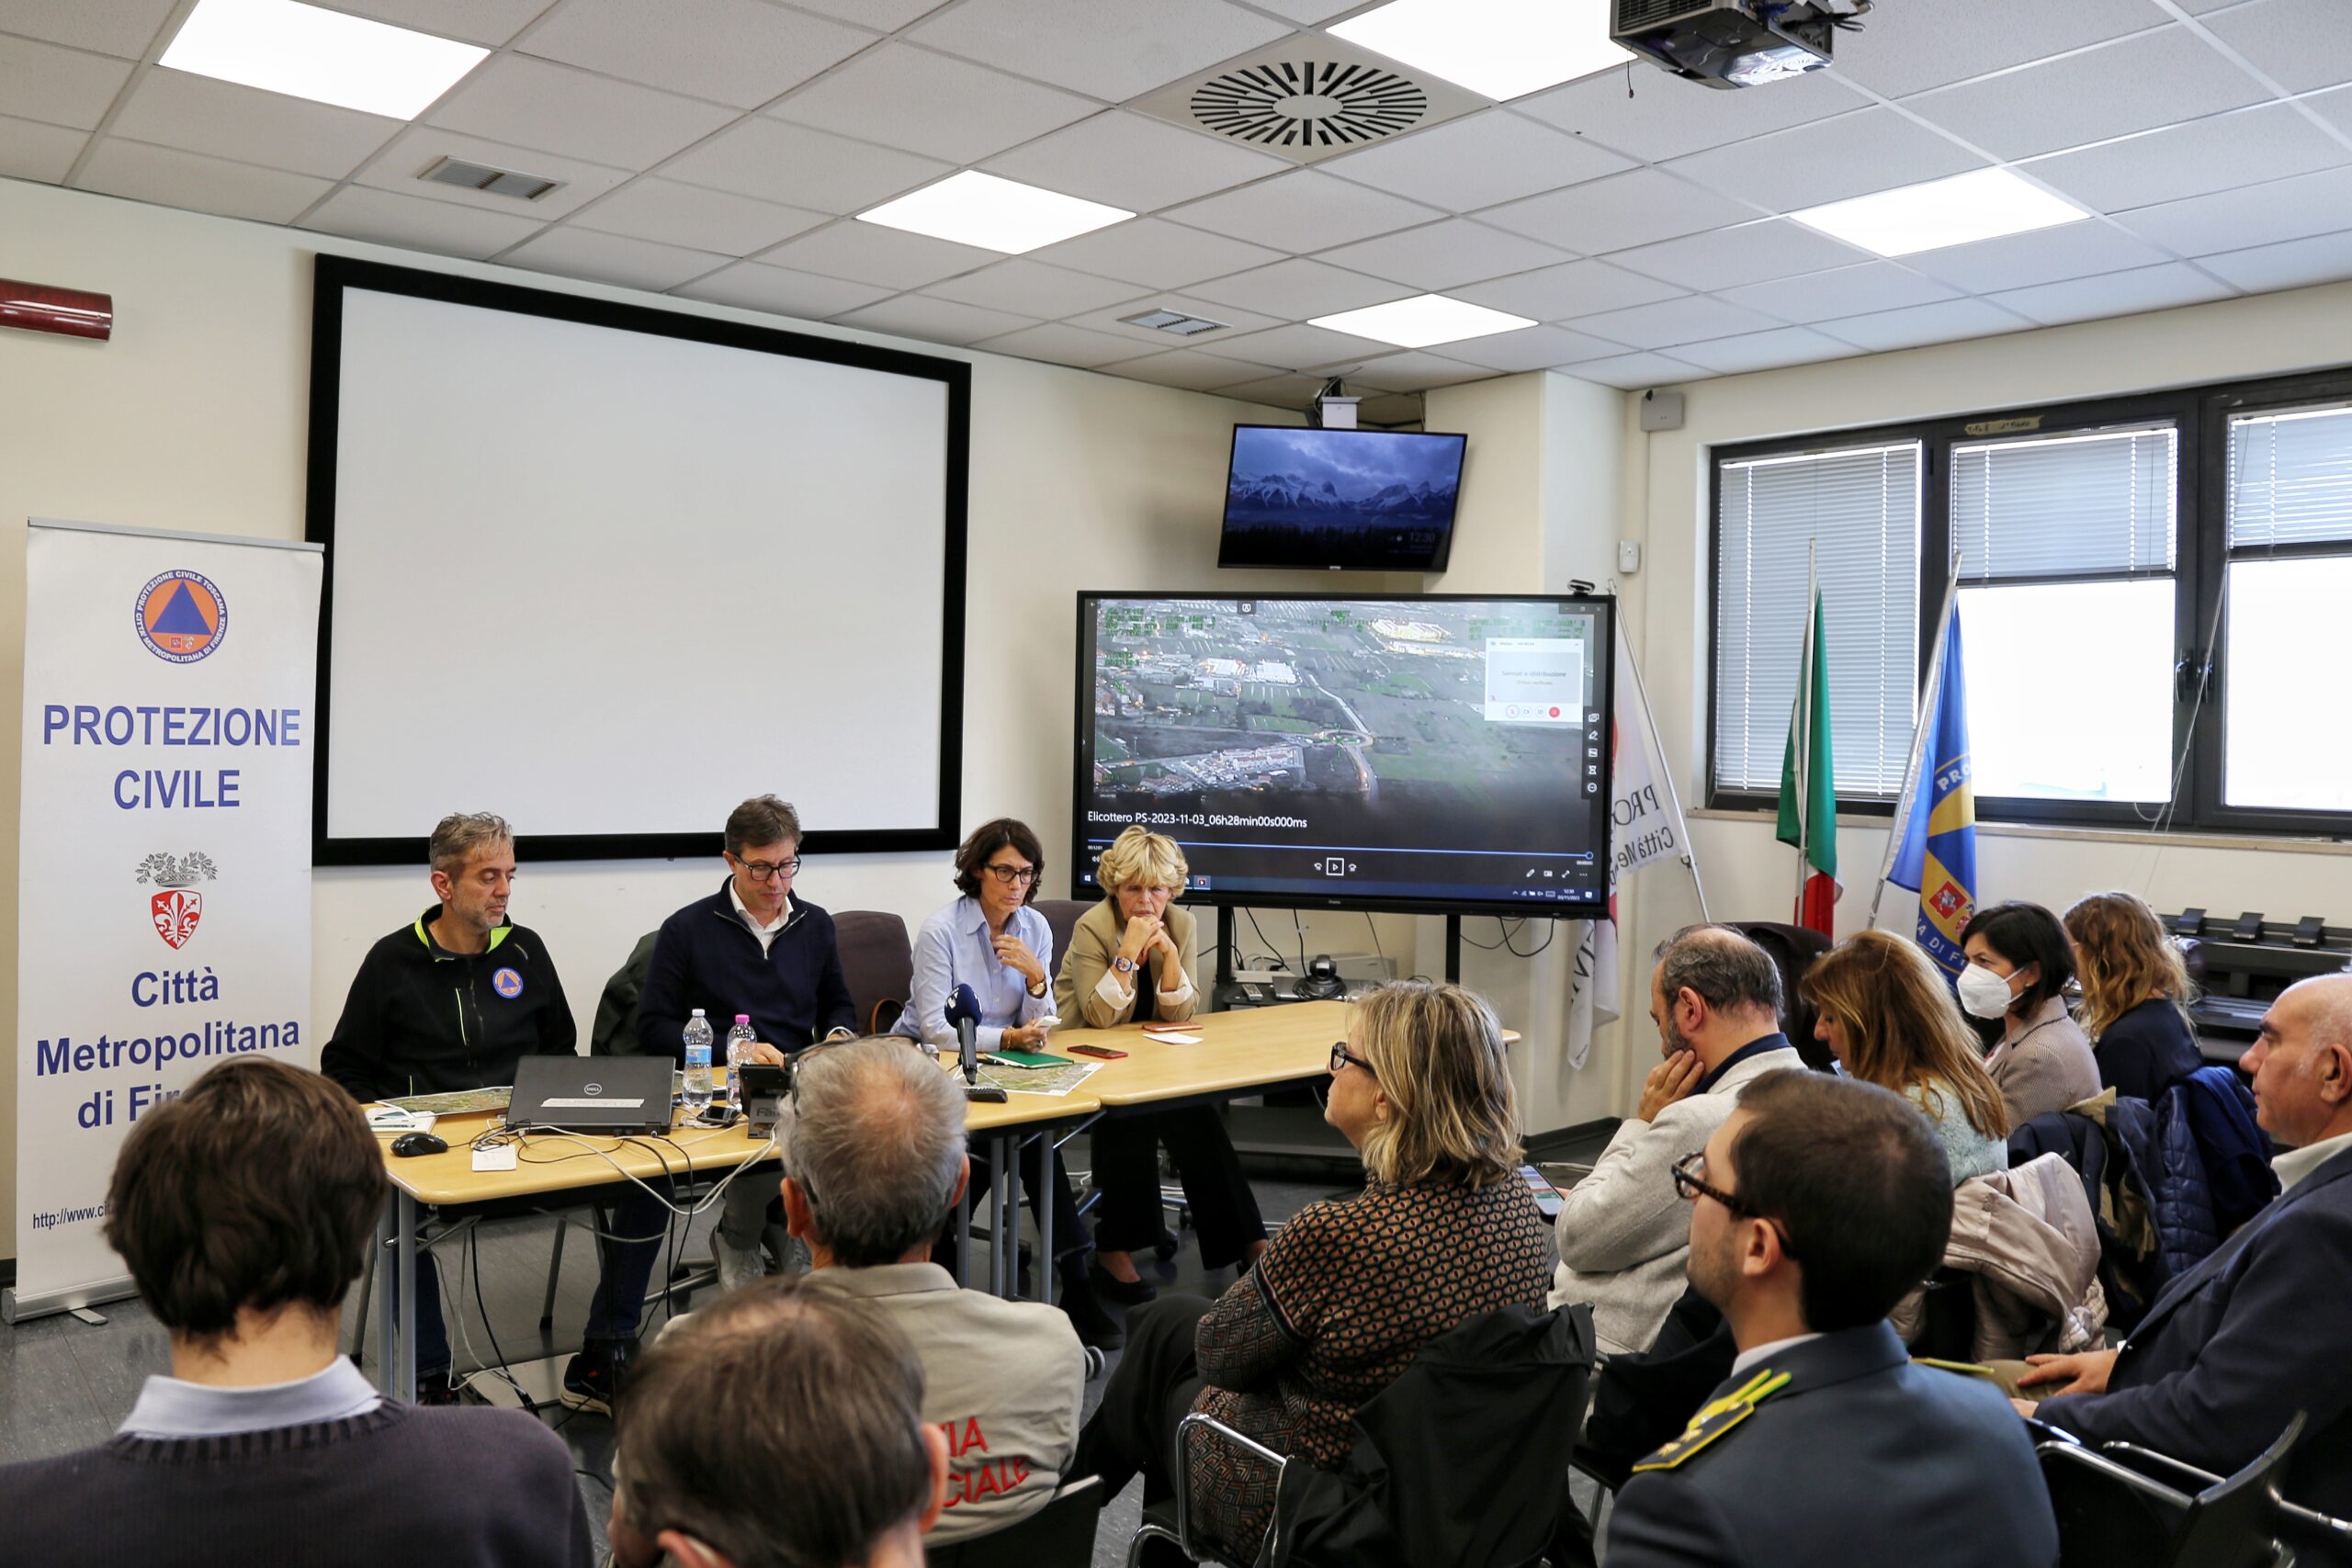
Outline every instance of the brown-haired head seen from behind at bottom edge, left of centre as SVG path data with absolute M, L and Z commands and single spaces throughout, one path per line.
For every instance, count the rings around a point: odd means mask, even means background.
M 889 1316 L 811 1276 L 677 1319 L 621 1394 L 616 1568 L 922 1568 L 948 1436 Z

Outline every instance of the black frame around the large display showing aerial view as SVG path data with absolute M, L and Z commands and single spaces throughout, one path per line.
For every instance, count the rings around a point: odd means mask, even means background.
M 1084 879 L 1094 875 L 1094 853 L 1087 849 L 1087 799 L 1094 792 L 1094 607 L 1101 599 L 1162 599 L 1162 602 L 1268 602 L 1277 599 L 1284 604 L 1552 604 L 1562 609 L 1592 611 L 1599 618 L 1595 628 L 1595 644 L 1606 649 L 1595 663 L 1595 693 L 1599 696 L 1599 710 L 1609 715 L 1609 733 L 1616 736 L 1616 616 L 1618 599 L 1606 592 L 1566 595 L 1566 592 L 1343 592 L 1343 590 L 1317 590 L 1317 592 L 1244 592 L 1244 590 L 1164 590 L 1164 588 L 1087 588 L 1077 595 L 1077 696 L 1073 703 L 1073 731 L 1070 731 L 1070 896 L 1080 900 L 1098 898 L 1101 891 L 1091 889 Z M 1223 907 L 1223 910 L 1336 910 L 1336 912 L 1362 912 L 1362 914 L 1501 914 L 1508 919 L 1606 919 L 1609 917 L 1609 877 L 1606 865 L 1616 853 L 1616 823 L 1611 813 L 1611 802 L 1616 799 L 1616 745 L 1602 745 L 1599 759 L 1599 792 L 1592 797 L 1599 802 L 1599 849 L 1602 849 L 1602 886 L 1590 903 L 1555 903 L 1555 905 L 1531 905 L 1512 900 L 1465 900 L 1465 898 L 1402 898 L 1402 896 L 1357 896 L 1357 893 L 1254 893 L 1235 889 L 1188 889 L 1183 893 L 1190 905 Z

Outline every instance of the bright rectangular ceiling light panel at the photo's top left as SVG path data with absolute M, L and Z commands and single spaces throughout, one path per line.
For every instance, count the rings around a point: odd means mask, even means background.
M 296 0 L 200 0 L 160 63 L 414 120 L 485 59 L 489 49 Z

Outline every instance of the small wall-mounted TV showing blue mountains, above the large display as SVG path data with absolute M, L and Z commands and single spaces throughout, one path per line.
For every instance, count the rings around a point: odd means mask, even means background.
M 1235 425 L 1218 567 L 1444 571 L 1461 435 Z

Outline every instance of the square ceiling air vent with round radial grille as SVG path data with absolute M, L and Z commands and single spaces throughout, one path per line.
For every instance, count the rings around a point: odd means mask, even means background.
M 1155 120 L 1315 162 L 1484 108 L 1486 99 L 1359 49 L 1296 33 L 1134 103 Z

